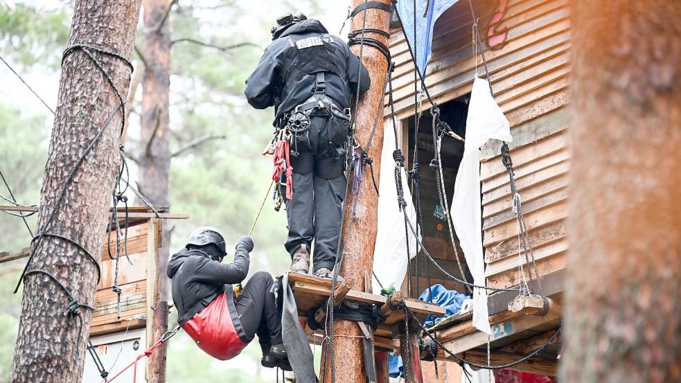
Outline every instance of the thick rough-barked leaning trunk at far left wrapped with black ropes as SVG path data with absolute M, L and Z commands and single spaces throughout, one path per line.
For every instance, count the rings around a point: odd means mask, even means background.
M 131 57 L 139 0 L 76 1 L 69 45 L 87 44 Z M 116 88 L 130 83 L 130 68 L 123 60 L 92 51 L 109 73 Z M 38 233 L 71 238 L 89 250 L 95 260 L 102 256 L 109 202 L 116 172 L 121 134 L 120 100 L 107 78 L 82 50 L 64 60 L 58 108 L 45 166 L 40 197 Z M 105 122 L 111 119 L 110 123 Z M 80 154 L 103 135 L 87 154 L 80 170 L 68 184 L 58 204 L 60 188 Z M 55 211 L 53 220 L 49 219 Z M 51 221 L 51 222 L 50 222 Z M 53 275 L 78 303 L 94 305 L 97 271 L 93 260 L 71 242 L 46 237 L 35 242 L 29 271 Z M 83 324 L 64 316 L 71 299 L 44 274 L 24 278 L 19 335 L 12 362 L 11 382 L 80 382 L 92 312 L 80 308 Z M 79 346 L 78 348 L 76 346 Z M 81 355 L 82 357 L 78 357 Z

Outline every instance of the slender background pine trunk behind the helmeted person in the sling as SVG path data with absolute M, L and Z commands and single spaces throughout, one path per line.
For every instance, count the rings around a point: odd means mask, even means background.
M 144 30 L 142 52 L 145 71 L 142 79 L 141 150 L 139 155 L 140 185 L 145 197 L 154 205 L 170 206 L 170 19 L 173 1 L 143 0 Z M 161 301 L 168 299 L 166 266 L 170 249 L 170 231 L 163 223 L 162 247 L 159 249 L 158 288 Z M 150 305 L 156 305 L 150 302 Z M 166 304 L 167 306 L 167 304 Z M 164 318 L 161 318 L 164 317 Z M 154 312 L 154 341 L 168 330 L 168 310 Z M 153 342 L 152 342 L 153 343 Z M 150 356 L 150 382 L 164 382 L 166 344 Z

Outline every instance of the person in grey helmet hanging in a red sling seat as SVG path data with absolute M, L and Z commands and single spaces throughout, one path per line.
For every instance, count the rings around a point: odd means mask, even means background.
M 220 360 L 238 355 L 257 334 L 263 366 L 286 368 L 274 278 L 258 271 L 240 294 L 232 287 L 246 278 L 253 247 L 253 240 L 243 235 L 234 262 L 224 264 L 222 235 L 209 226 L 193 231 L 186 247 L 168 262 L 177 322 L 199 348 Z

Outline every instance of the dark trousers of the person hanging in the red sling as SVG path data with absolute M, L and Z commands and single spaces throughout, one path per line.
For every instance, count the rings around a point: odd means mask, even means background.
M 236 312 L 247 337 L 258 335 L 260 348 L 269 353 L 273 344 L 281 344 L 281 308 L 274 299 L 274 278 L 265 272 L 253 274 L 236 299 Z

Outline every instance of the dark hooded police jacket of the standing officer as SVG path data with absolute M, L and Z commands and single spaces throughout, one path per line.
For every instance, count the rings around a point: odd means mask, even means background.
M 339 37 L 315 19 L 294 24 L 269 44 L 255 71 L 246 80 L 246 98 L 256 109 L 275 107 L 276 121 L 312 96 L 319 71 L 324 71 L 324 94 L 342 108 L 350 107 L 362 71 L 360 93 L 371 79 L 360 59 Z

